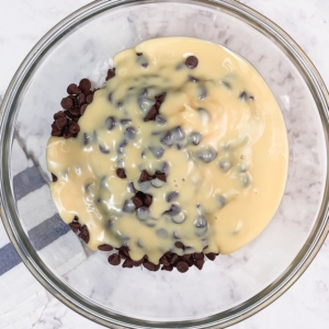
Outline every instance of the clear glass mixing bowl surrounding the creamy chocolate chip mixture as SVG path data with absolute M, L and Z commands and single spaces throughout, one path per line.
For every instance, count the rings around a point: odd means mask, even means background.
M 47 182 L 52 116 L 66 87 L 117 52 L 159 36 L 194 36 L 246 57 L 274 93 L 287 128 L 281 206 L 250 245 L 185 274 L 110 266 L 61 223 Z M 1 217 L 35 277 L 63 303 L 112 328 L 223 328 L 295 282 L 328 232 L 328 92 L 300 48 L 229 0 L 95 1 L 56 25 L 14 76 L 1 107 Z M 271 174 L 271 173 L 269 173 Z M 261 205 L 260 205 L 261 206 Z

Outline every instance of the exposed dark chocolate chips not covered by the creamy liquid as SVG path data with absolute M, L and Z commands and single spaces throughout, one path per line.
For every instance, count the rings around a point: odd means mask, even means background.
M 189 64 L 189 65 L 188 65 Z M 186 66 L 194 68 L 197 65 L 197 60 L 194 58 L 188 58 Z M 110 69 L 107 71 L 106 81 L 112 79 L 115 76 L 115 69 Z M 95 91 L 95 90 L 94 90 Z M 52 136 L 64 137 L 64 138 L 76 138 L 80 132 L 78 125 L 79 118 L 83 115 L 87 106 L 93 100 L 94 91 L 91 90 L 91 82 L 88 79 L 82 79 L 79 86 L 71 83 L 67 88 L 68 97 L 64 98 L 60 102 L 61 107 L 65 111 L 59 111 L 54 115 L 54 123 L 52 124 Z M 148 114 L 145 116 L 144 121 L 155 121 L 159 114 L 161 104 L 166 99 L 166 93 L 156 97 L 156 104 L 151 107 Z M 121 179 L 126 179 L 126 173 L 124 168 L 118 168 L 116 174 Z M 52 173 L 53 182 L 57 181 L 57 177 Z M 140 172 L 139 182 L 147 182 L 154 179 L 166 182 L 166 173 L 161 171 L 156 171 L 155 174 L 149 174 L 146 170 Z M 131 188 L 135 195 L 132 197 L 132 201 L 138 209 L 139 207 L 149 207 L 152 203 L 152 196 L 150 194 L 144 193 L 135 189 L 134 184 L 131 183 Z M 69 227 L 78 237 L 84 241 L 89 242 L 89 230 L 86 225 L 79 223 L 79 218 L 75 216 L 72 223 L 69 224 Z M 181 241 L 175 242 L 175 247 L 180 249 L 185 249 L 185 246 Z M 205 247 L 206 248 L 206 247 Z M 159 264 L 155 264 L 148 260 L 148 257 L 145 254 L 140 260 L 134 261 L 129 257 L 129 248 L 127 246 L 122 246 L 121 248 L 113 248 L 110 245 L 101 245 L 98 247 L 101 251 L 112 251 L 116 250 L 117 252 L 111 253 L 109 256 L 109 263 L 111 265 L 120 265 L 122 263 L 123 268 L 136 268 L 143 265 L 145 269 L 156 272 L 160 268 L 162 271 L 172 271 L 173 268 L 181 273 L 185 273 L 189 269 L 195 265 L 198 270 L 202 270 L 204 265 L 204 257 L 214 261 L 218 253 L 209 252 L 194 252 L 179 256 L 174 252 L 168 251 L 160 259 Z

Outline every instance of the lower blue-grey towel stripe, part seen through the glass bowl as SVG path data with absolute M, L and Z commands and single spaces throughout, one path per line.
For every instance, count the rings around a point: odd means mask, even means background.
M 70 227 L 63 222 L 58 214 L 55 214 L 53 217 L 30 229 L 27 235 L 32 246 L 39 251 L 69 230 Z

